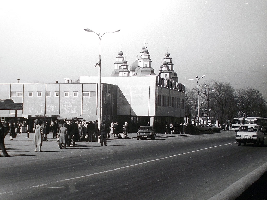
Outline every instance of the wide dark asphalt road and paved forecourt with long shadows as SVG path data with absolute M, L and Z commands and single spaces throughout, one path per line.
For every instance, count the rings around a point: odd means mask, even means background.
M 50 134 L 51 135 L 51 134 Z M 6 138 L 0 199 L 209 199 L 267 162 L 266 147 L 237 146 L 234 131 L 111 138 L 43 152 L 25 136 Z M 24 139 L 23 139 L 24 138 Z

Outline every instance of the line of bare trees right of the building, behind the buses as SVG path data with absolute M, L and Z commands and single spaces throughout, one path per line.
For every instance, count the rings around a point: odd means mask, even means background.
M 267 102 L 253 87 L 234 89 L 230 83 L 215 80 L 199 85 L 199 116 L 215 118 L 219 123 L 233 117 L 267 117 Z M 195 119 L 198 113 L 198 89 L 186 92 L 185 112 L 187 119 Z

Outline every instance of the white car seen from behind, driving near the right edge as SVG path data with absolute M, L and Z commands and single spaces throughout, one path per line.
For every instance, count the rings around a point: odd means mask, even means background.
M 247 124 L 240 126 L 239 131 L 235 133 L 235 140 L 237 145 L 241 143 L 254 143 L 255 145 L 264 144 L 264 133 L 261 131 L 260 126 Z

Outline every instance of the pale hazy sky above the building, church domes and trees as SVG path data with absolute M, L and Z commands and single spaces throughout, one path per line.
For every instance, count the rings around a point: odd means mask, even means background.
M 158 75 L 168 50 L 187 89 L 216 80 L 267 100 L 267 1 L 1 1 L 0 83 L 51 83 L 111 75 L 121 50 L 130 66 L 146 44 Z

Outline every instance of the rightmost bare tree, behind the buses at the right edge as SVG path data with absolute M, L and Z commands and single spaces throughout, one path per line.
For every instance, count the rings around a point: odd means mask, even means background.
M 260 91 L 249 87 L 237 90 L 239 114 L 244 117 L 266 117 L 267 104 Z

